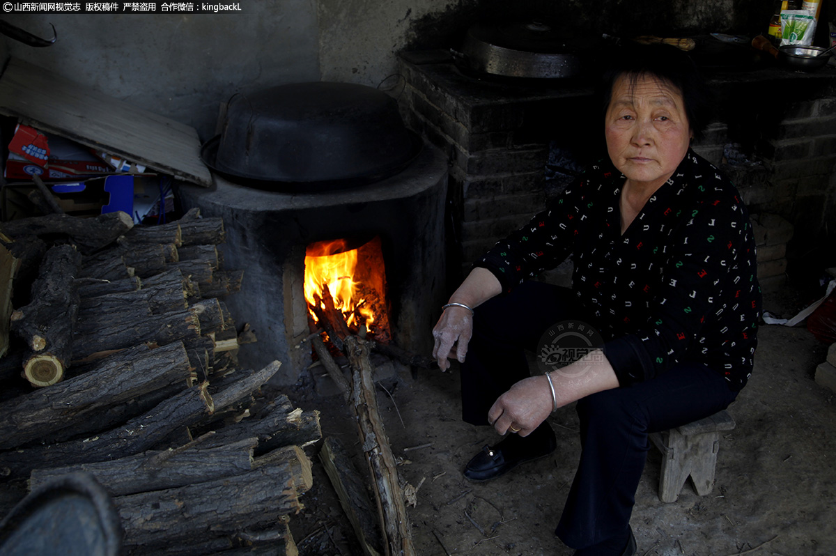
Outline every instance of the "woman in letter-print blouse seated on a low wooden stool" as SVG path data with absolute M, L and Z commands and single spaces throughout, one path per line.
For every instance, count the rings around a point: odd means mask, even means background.
M 441 369 L 461 362 L 464 420 L 512 433 L 466 464 L 468 479 L 548 456 L 546 418 L 578 402 L 582 451 L 556 534 L 584 556 L 636 552 L 649 433 L 735 400 L 761 305 L 746 207 L 690 148 L 707 107 L 691 60 L 637 47 L 605 81 L 609 160 L 477 261 L 433 329 Z M 571 290 L 527 280 L 569 254 Z M 568 319 L 597 329 L 600 349 L 529 376 L 524 349 Z

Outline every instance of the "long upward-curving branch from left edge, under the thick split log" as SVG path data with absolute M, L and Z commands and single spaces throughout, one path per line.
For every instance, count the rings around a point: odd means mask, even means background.
M 194 426 L 212 414 L 212 396 L 207 387 L 206 382 L 192 386 L 124 425 L 92 438 L 0 452 L 0 475 L 20 477 L 36 467 L 104 462 L 151 450 L 174 431 Z

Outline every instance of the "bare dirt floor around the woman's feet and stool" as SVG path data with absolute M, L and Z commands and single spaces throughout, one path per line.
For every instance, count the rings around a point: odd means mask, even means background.
M 784 292 L 765 308 L 792 316 L 810 301 Z M 713 492 L 697 496 L 690 484 L 673 503 L 660 502 L 660 453 L 651 448 L 631 520 L 641 556 L 836 554 L 836 407 L 833 391 L 815 383 L 827 345 L 806 329 L 764 326 L 752 379 L 729 408 L 737 428 L 723 433 Z M 288 391 L 305 410 L 322 412 L 324 436 L 337 436 L 366 473 L 354 422 L 333 395 L 321 368 Z M 387 375 L 387 373 L 383 373 Z M 388 373 L 378 389 L 380 411 L 400 479 L 418 489 L 409 516 L 416 553 L 571 554 L 554 537 L 579 457 L 573 406 L 550 422 L 558 450 L 490 483 L 468 482 L 461 467 L 498 437 L 460 418 L 459 382 L 452 372 Z M 329 395 L 331 394 L 331 395 Z M 316 453 L 308 507 L 291 520 L 303 556 L 360 554 Z M 423 446 L 423 447 L 415 447 Z

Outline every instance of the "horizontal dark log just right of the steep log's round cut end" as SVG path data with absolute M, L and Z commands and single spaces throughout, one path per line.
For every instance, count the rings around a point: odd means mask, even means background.
M 73 339 L 73 355 L 82 360 L 98 352 L 126 348 L 140 342 L 165 345 L 199 335 L 197 317 L 188 310 L 150 316 L 138 314 L 135 319 L 125 317 L 110 323 L 88 319 L 78 325 Z

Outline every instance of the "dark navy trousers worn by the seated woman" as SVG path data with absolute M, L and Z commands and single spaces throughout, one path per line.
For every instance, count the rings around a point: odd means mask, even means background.
M 536 349 L 552 324 L 584 319 L 565 288 L 529 282 L 476 309 L 473 338 L 461 365 L 462 416 L 487 425 L 499 395 L 529 375 L 524 349 Z M 624 533 L 650 450 L 650 432 L 665 431 L 725 409 L 736 392 L 706 365 L 682 362 L 655 379 L 604 390 L 578 401 L 581 457 L 556 534 L 586 548 Z

